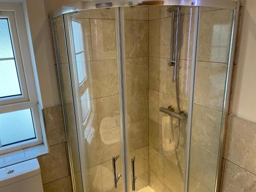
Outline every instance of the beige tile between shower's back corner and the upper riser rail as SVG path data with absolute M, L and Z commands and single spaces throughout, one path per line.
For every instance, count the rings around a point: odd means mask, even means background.
M 172 18 L 150 20 L 149 24 L 149 56 L 170 56 L 170 29 Z

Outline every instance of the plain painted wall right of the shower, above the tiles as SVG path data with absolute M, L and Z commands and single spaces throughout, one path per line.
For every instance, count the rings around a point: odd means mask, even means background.
M 232 115 L 256 122 L 256 1 L 245 0 Z

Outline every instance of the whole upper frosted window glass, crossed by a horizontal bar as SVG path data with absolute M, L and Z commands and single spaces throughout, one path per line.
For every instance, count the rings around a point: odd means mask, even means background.
M 21 95 L 7 19 L 0 19 L 0 98 Z

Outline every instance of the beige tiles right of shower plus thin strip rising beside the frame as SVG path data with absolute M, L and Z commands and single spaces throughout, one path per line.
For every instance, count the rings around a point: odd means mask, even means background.
M 230 102 L 236 81 L 236 70 L 241 41 L 242 12 L 244 1 L 240 1 L 240 18 L 235 59 L 233 63 Z M 232 103 L 230 103 L 231 112 Z M 240 117 L 228 116 L 224 151 L 224 172 L 221 192 L 256 191 L 256 122 Z

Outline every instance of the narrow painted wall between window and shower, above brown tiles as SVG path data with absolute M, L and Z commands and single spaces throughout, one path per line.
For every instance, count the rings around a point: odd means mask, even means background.
M 43 108 L 59 105 L 50 27 L 45 0 L 24 0 L 38 101 Z

